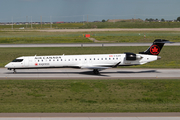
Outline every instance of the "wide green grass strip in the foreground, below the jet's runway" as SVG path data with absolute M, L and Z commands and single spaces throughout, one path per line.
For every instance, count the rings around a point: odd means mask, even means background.
M 1 80 L 0 112 L 179 112 L 180 80 Z

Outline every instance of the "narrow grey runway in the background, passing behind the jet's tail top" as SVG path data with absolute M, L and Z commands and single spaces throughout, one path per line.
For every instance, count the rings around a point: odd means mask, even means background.
M 112 46 L 150 46 L 152 43 L 70 43 L 70 44 L 0 44 L 0 47 L 112 47 Z M 165 46 L 180 46 L 179 42 Z

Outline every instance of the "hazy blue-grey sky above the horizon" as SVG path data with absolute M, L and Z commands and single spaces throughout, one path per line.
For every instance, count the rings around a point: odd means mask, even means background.
M 175 20 L 180 0 L 0 0 L 0 22 Z

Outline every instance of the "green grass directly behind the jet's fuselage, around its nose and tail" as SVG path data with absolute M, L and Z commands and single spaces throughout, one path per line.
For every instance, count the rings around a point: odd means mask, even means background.
M 78 54 L 113 54 L 145 51 L 148 47 L 45 47 L 45 48 L 0 48 L 0 67 L 20 56 L 34 55 L 78 55 Z M 180 68 L 179 46 L 164 46 L 159 56 L 160 60 L 145 64 L 132 66 L 131 68 Z

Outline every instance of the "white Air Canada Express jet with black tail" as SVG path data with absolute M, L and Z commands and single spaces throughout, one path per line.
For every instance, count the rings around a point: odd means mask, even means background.
M 53 55 L 53 56 L 26 56 L 18 57 L 5 67 L 8 70 L 39 69 L 39 68 L 81 68 L 92 69 L 94 74 L 100 70 L 117 66 L 142 65 L 160 59 L 158 56 L 168 40 L 157 39 L 144 52 L 139 54 L 92 54 L 92 55 Z

